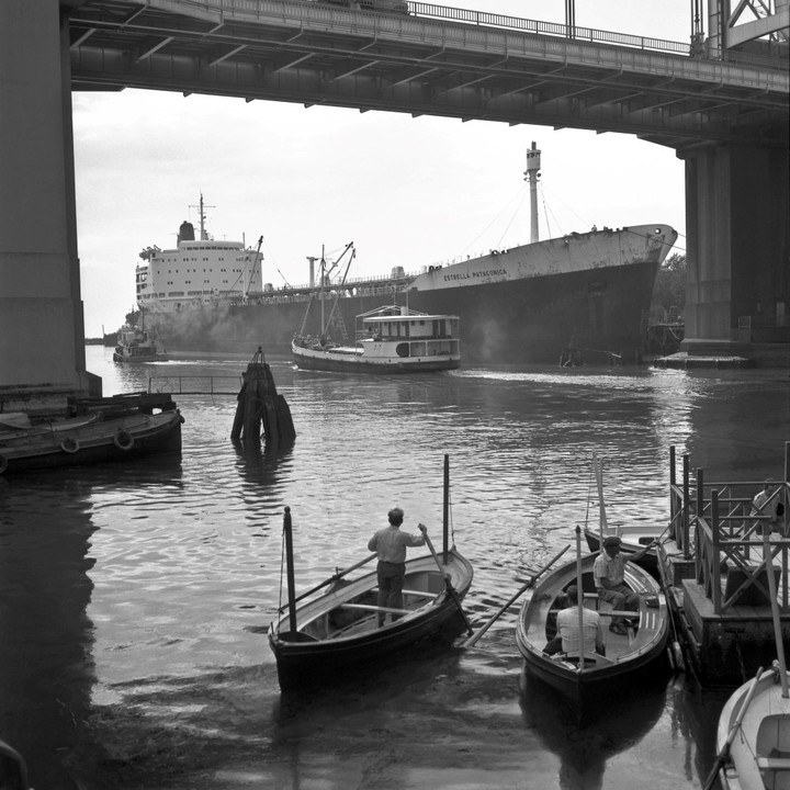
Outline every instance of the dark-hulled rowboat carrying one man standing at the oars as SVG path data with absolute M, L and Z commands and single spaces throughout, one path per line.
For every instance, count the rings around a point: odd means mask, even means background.
M 443 567 L 458 599 L 463 600 L 472 584 L 472 565 L 452 550 Z M 404 605 L 410 611 L 394 622 L 387 618 L 381 628 L 376 627 L 376 574 L 371 573 L 297 606 L 295 637 L 287 611 L 271 623 L 269 644 L 282 690 L 309 687 L 362 664 L 370 666 L 424 639 L 441 635 L 460 620 L 458 606 L 430 555 L 406 562 Z

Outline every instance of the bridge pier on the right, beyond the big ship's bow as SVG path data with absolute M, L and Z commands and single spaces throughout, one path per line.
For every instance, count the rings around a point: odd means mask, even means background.
M 678 156 L 686 162 L 682 350 L 749 357 L 756 345 L 789 343 L 788 151 L 710 144 Z

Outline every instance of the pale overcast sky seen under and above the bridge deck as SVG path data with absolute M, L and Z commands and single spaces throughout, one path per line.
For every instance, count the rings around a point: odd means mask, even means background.
M 447 3 L 564 22 L 565 2 Z M 690 0 L 576 0 L 576 24 L 688 42 Z M 685 251 L 684 167 L 631 135 L 127 90 L 74 97 L 78 244 L 86 336 L 135 304 L 145 247 L 198 225 L 263 237 L 263 279 L 308 278 L 307 256 L 353 241 L 350 276 L 407 271 L 530 239 L 523 180 L 542 151 L 541 238 L 667 223 Z

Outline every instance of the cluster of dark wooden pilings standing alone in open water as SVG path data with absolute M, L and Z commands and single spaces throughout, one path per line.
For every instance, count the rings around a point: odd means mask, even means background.
M 274 377 L 259 347 L 241 374 L 236 417 L 230 432 L 234 441 L 260 443 L 261 435 L 269 445 L 289 444 L 296 438 L 291 409 L 278 394 Z M 262 427 L 262 430 L 261 430 Z

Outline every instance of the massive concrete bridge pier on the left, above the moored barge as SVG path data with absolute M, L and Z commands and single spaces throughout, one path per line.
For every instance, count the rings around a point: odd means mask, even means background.
M 86 371 L 71 72 L 58 0 L 0 2 L 0 402 L 101 394 Z M 23 406 L 20 406 L 23 407 Z

